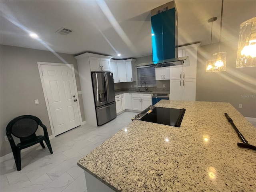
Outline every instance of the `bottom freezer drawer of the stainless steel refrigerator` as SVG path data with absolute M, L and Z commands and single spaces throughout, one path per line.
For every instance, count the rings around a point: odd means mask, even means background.
M 96 108 L 98 126 L 109 122 L 116 117 L 116 102 Z

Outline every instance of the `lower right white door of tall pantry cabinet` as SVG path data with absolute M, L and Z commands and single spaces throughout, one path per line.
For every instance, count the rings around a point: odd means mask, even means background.
M 196 79 L 182 80 L 182 100 L 196 100 Z

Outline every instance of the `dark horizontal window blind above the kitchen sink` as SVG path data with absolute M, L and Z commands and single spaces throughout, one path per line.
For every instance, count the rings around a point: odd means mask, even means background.
M 146 82 L 147 86 L 156 86 L 156 70 L 154 67 L 137 68 L 138 87 L 142 82 Z

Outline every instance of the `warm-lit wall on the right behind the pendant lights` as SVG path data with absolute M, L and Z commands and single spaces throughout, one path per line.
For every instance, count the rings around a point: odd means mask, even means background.
M 206 72 L 206 60 L 218 52 L 219 44 L 198 49 L 196 100 L 229 102 L 243 116 L 256 118 L 256 67 L 236 68 L 237 44 L 238 40 L 221 44 L 221 51 L 227 52 L 223 72 Z M 238 104 L 242 104 L 242 108 L 238 108 Z

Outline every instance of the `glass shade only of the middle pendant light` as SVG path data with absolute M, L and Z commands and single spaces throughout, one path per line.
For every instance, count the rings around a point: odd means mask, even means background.
M 212 56 L 212 63 L 213 68 L 212 72 L 217 71 L 226 71 L 226 52 L 218 52 L 213 54 Z

